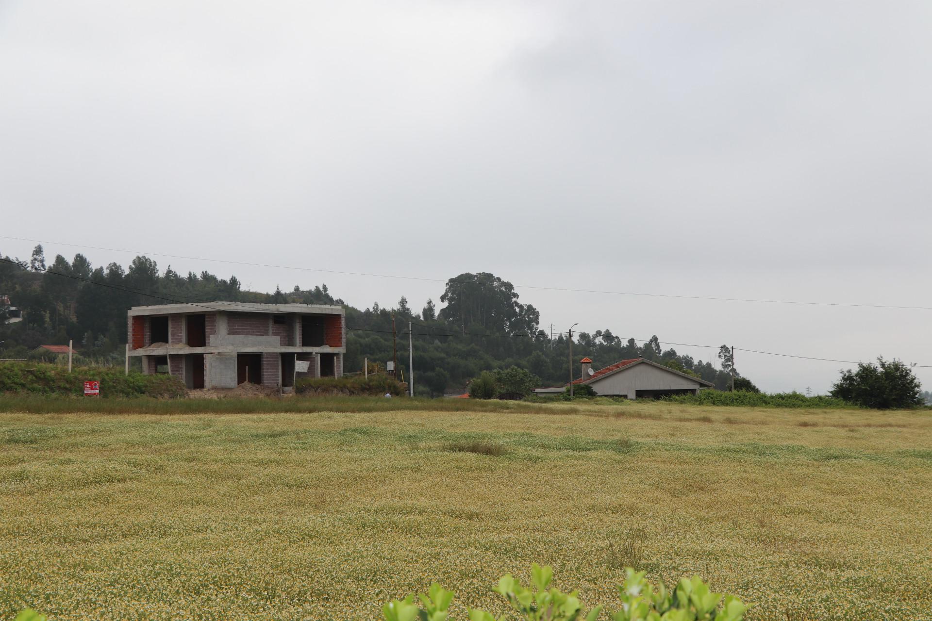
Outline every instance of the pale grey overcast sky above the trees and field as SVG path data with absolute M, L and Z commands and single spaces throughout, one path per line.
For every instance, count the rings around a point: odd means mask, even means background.
M 361 308 L 443 284 L 157 253 L 932 307 L 929 33 L 928 0 L 0 1 L 0 235 Z M 518 291 L 547 330 L 932 365 L 932 310 Z

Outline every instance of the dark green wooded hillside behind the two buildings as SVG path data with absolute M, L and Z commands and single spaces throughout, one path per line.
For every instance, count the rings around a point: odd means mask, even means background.
M 21 309 L 22 321 L 0 321 L 3 358 L 24 357 L 39 344 L 75 342 L 85 358 L 121 364 L 127 338 L 130 306 L 173 302 L 254 302 L 267 304 L 342 304 L 346 308 L 347 354 L 344 370 L 362 371 L 363 359 L 392 359 L 398 341 L 400 372 L 407 369 L 407 330 L 415 341 L 415 384 L 421 395 L 441 395 L 465 389 L 481 371 L 518 367 L 541 382 L 560 385 L 569 380 L 569 338 L 551 339 L 541 330 L 540 312 L 522 304 L 514 285 L 488 273 L 450 278 L 439 297 L 440 307 L 427 300 L 421 310 L 402 296 L 391 308 L 377 303 L 355 308 L 334 298 L 326 285 L 272 293 L 242 290 L 235 276 L 217 277 L 207 271 L 180 274 L 144 256 L 124 268 L 119 263 L 93 266 L 83 254 L 68 261 L 61 254 L 47 264 L 42 246 L 29 260 L 4 257 L 0 261 L 0 295 Z M 0 308 L 0 318 L 4 317 Z M 394 326 L 392 325 L 394 321 Z M 394 337 L 393 331 L 394 330 Z M 647 343 L 624 340 L 610 329 L 573 335 L 575 358 L 588 356 L 599 369 L 625 358 L 648 358 L 690 373 L 726 389 L 732 381 L 733 361 L 724 345 L 717 359 L 697 360 L 664 347 L 657 336 Z M 574 372 L 580 371 L 574 360 Z M 753 389 L 735 370 L 738 388 Z

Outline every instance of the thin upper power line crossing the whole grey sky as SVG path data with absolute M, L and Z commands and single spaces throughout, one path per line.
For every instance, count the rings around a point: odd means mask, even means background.
M 393 274 L 377 274 L 371 272 L 348 272 L 341 270 L 327 270 L 315 267 L 299 267 L 295 265 L 276 265 L 273 263 L 251 263 L 247 261 L 230 261 L 226 259 L 211 259 L 208 257 L 191 257 L 181 254 L 167 254 L 165 252 L 142 252 L 138 250 L 123 250 L 117 248 L 104 248 L 101 246 L 85 246 L 81 244 L 70 244 L 66 242 L 58 241 L 43 241 L 41 239 L 30 239 L 28 237 L 16 237 L 16 236 L 0 236 L 2 239 L 15 239 L 18 241 L 28 241 L 34 242 L 37 244 L 52 244 L 59 246 L 69 246 L 72 248 L 84 248 L 90 250 L 107 250 L 110 252 L 126 252 L 128 254 L 136 255 L 151 255 L 158 257 L 168 257 L 171 259 L 185 259 L 188 261 L 209 261 L 212 263 L 229 263 L 233 265 L 250 265 L 254 267 L 271 267 L 274 269 L 291 269 L 291 270 L 300 270 L 305 272 L 318 272 L 322 274 L 339 274 L 343 276 L 363 276 L 363 277 L 377 277 L 377 278 L 396 278 L 401 280 L 418 280 L 424 282 L 463 282 L 468 284 L 481 285 L 483 283 L 477 283 L 472 280 L 457 280 L 456 278 L 428 278 L 428 277 L 413 277 L 413 276 L 398 276 Z M 547 290 L 547 291 L 562 291 L 568 293 L 601 293 L 607 295 L 630 295 L 637 297 L 653 297 L 653 298 L 671 298 L 678 300 L 705 300 L 709 302 L 745 302 L 745 303 L 757 303 L 757 304 L 793 304 L 793 305 L 804 305 L 804 306 L 838 306 L 838 307 L 849 307 L 849 308 L 889 308 L 889 309 L 898 309 L 898 310 L 932 310 L 932 306 L 911 306 L 905 304 L 854 304 L 854 303 L 836 303 L 836 302 L 807 302 L 802 300 L 767 300 L 763 298 L 726 298 L 726 297 L 715 297 L 715 296 L 704 296 L 704 295 L 681 295 L 674 293 L 645 293 L 642 291 L 610 291 L 610 290 L 596 290 L 596 289 L 567 289 L 562 287 L 539 287 L 535 285 L 513 285 L 518 289 L 532 289 L 532 290 Z

